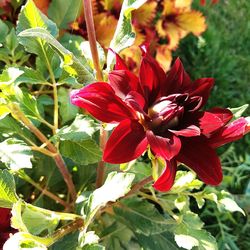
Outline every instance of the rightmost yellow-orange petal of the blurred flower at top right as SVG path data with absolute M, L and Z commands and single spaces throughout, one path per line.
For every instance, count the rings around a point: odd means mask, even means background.
M 190 11 L 182 13 L 176 17 L 176 23 L 179 27 L 194 35 L 200 35 L 207 28 L 206 19 L 199 11 Z

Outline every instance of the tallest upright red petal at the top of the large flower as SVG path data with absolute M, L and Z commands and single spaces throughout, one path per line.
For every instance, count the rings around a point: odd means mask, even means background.
M 140 66 L 140 82 L 145 99 L 152 104 L 157 98 L 160 88 L 165 84 L 166 74 L 158 62 L 142 49 L 143 58 Z M 162 86 L 164 88 L 165 86 Z

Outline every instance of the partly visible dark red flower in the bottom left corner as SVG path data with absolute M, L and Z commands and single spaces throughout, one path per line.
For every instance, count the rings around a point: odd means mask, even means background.
M 10 234 L 16 232 L 10 226 L 10 211 L 8 208 L 0 208 L 0 249 L 2 249 L 5 241 L 8 240 Z

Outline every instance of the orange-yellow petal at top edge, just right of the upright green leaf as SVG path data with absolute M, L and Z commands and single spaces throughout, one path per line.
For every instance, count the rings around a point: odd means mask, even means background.
M 133 20 L 140 25 L 149 25 L 155 17 L 156 2 L 143 4 L 139 9 L 132 12 Z

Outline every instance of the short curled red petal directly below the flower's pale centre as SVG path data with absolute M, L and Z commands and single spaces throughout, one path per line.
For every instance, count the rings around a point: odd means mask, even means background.
M 170 135 L 170 138 L 164 138 L 154 135 L 152 131 L 148 130 L 147 138 L 153 153 L 167 160 L 175 157 L 181 149 L 181 140 L 175 135 Z

